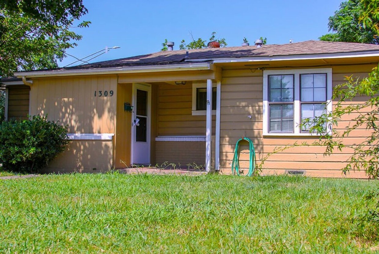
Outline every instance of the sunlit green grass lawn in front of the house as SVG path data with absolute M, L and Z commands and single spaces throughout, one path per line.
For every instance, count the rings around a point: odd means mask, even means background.
M 378 181 L 49 175 L 0 180 L 0 252 L 370 252 Z

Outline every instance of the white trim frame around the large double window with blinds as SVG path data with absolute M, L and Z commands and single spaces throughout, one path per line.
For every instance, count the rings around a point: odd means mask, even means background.
M 300 113 L 300 74 L 326 73 L 326 110 L 327 113 L 332 111 L 332 68 L 319 69 L 288 69 L 288 70 L 269 70 L 263 71 L 263 136 L 318 136 L 316 133 L 301 133 L 299 124 L 301 122 Z M 294 74 L 294 133 L 269 133 L 268 131 L 268 75 L 287 75 Z M 331 132 L 328 124 L 327 132 Z

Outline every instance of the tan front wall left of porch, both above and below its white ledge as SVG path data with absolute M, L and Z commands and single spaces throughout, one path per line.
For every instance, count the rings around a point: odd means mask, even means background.
M 95 96 L 95 91 L 102 91 L 103 96 Z M 104 96 L 104 91 L 108 96 Z M 49 120 L 60 121 L 68 126 L 69 133 L 116 131 L 116 75 L 36 78 L 30 93 L 31 114 L 43 114 Z M 112 140 L 74 140 L 46 171 L 108 170 L 113 166 L 113 149 Z

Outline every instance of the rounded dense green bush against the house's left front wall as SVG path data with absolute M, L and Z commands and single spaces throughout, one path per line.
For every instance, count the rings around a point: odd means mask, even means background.
M 64 151 L 67 127 L 46 116 L 0 124 L 0 163 L 13 172 L 38 172 Z

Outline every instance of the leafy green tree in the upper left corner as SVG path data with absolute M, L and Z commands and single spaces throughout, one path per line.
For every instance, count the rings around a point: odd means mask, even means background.
M 81 0 L 0 2 L 0 77 L 15 71 L 58 67 L 65 51 L 82 36 L 73 28 L 88 10 Z

